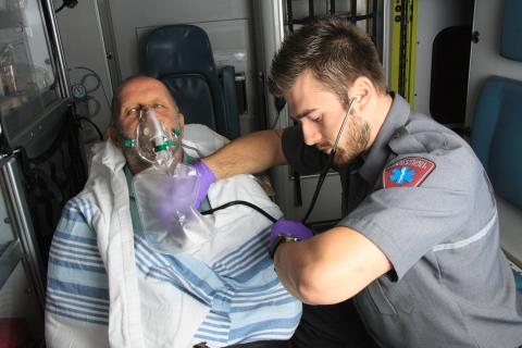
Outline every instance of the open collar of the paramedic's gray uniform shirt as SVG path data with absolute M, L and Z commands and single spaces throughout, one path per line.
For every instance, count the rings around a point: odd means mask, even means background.
M 388 159 L 389 140 L 393 138 L 397 129 L 406 124 L 410 115 L 410 105 L 402 97 L 391 94 L 391 98 L 394 98 L 394 101 L 381 129 L 378 130 L 375 141 L 370 150 L 361 156 L 363 163 L 359 169 L 359 174 L 370 184 L 375 183 Z

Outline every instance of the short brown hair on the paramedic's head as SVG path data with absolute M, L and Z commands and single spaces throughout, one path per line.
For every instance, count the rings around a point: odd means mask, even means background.
M 270 91 L 283 97 L 307 70 L 345 104 L 347 87 L 360 76 L 368 77 L 380 92 L 386 92 L 375 45 L 347 18 L 318 18 L 290 35 L 272 60 Z

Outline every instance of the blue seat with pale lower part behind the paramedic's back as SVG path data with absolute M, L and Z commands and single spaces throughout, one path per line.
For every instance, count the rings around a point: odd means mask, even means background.
M 476 104 L 470 142 L 496 194 L 501 247 L 522 268 L 522 82 L 487 78 Z

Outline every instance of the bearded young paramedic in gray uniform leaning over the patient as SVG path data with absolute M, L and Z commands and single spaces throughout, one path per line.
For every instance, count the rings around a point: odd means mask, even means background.
M 217 178 L 285 163 L 318 173 L 348 117 L 334 158 L 344 217 L 313 237 L 297 222 L 272 227 L 281 281 L 312 304 L 294 345 L 348 346 L 350 325 L 330 315 L 347 299 L 381 347 L 522 345 L 522 296 L 485 171 L 461 137 L 387 92 L 370 38 L 346 18 L 316 20 L 284 41 L 270 87 L 298 125 L 206 158 Z

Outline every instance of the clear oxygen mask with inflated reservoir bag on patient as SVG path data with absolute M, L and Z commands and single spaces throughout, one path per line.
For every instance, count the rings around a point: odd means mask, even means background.
M 194 208 L 200 179 L 197 171 L 176 160 L 182 147 L 176 129 L 167 132 L 154 109 L 144 108 L 136 139 L 125 144 L 151 164 L 133 179 L 147 241 L 160 252 L 191 253 L 211 239 L 212 231 Z

